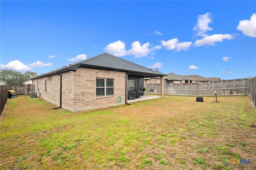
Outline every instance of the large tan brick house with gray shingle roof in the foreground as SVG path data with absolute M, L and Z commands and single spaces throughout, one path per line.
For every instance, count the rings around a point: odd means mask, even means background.
M 103 53 L 32 78 L 37 96 L 75 112 L 127 103 L 127 91 L 144 87 L 144 77 L 165 74 Z M 119 104 L 120 105 L 120 104 Z

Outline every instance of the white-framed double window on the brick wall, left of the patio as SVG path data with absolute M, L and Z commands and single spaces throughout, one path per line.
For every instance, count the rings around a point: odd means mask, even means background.
M 96 96 L 114 95 L 114 79 L 96 79 Z

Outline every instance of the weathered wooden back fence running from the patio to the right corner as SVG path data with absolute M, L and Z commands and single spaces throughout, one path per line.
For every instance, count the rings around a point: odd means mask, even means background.
M 156 93 L 160 94 L 159 84 L 144 84 L 147 91 L 153 92 L 156 89 Z M 181 95 L 181 96 L 212 96 L 214 90 L 218 95 L 248 95 L 248 79 L 242 81 L 224 81 L 218 83 L 207 84 L 165 84 L 165 95 Z

